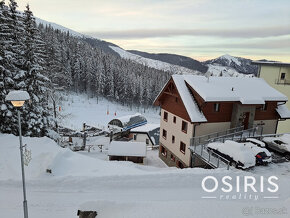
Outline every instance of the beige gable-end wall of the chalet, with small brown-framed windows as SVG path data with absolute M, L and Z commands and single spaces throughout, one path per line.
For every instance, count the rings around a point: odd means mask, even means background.
M 182 118 L 176 116 L 176 123 L 173 123 L 173 115 L 168 112 L 168 120 L 167 122 L 163 120 L 164 109 L 161 109 L 161 122 L 160 122 L 160 143 L 162 143 L 166 148 L 168 148 L 177 158 L 179 158 L 182 162 L 186 164 L 186 166 L 190 166 L 191 154 L 189 151 L 190 139 L 193 134 L 193 125 L 183 120 Z M 188 123 L 187 133 L 184 133 L 181 130 L 182 120 Z M 162 137 L 163 129 L 167 131 L 167 138 L 164 139 Z M 172 144 L 172 135 L 175 136 L 175 143 Z M 180 141 L 186 144 L 185 154 L 180 151 Z

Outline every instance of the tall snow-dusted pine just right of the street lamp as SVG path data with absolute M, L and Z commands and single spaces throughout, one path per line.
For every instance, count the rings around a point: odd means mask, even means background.
M 30 102 L 23 110 L 23 131 L 26 135 L 43 136 L 49 125 L 48 93 L 49 79 L 41 74 L 43 71 L 43 41 L 36 27 L 35 18 L 30 11 L 29 5 L 24 11 L 24 63 L 23 80 L 25 89 L 30 94 Z

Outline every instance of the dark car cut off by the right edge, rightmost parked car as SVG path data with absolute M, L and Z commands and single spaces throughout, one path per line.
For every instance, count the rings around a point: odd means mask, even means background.
M 264 137 L 263 142 L 267 147 L 284 155 L 290 160 L 290 134 L 284 134 L 279 137 Z

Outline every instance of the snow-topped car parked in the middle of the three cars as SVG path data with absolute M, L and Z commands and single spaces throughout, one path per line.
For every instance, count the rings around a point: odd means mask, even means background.
M 253 155 L 256 158 L 256 165 L 267 165 L 268 163 L 272 162 L 272 155 L 266 148 L 258 147 L 252 142 L 246 142 L 242 144 L 248 146 L 252 150 Z

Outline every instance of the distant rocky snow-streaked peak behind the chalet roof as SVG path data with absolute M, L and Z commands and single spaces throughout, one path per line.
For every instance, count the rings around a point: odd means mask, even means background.
M 220 68 L 226 72 L 230 69 L 230 71 L 235 70 L 237 73 L 257 75 L 258 67 L 252 65 L 251 62 L 252 60 L 250 59 L 234 57 L 226 54 L 203 63 L 209 66 L 209 68 Z

